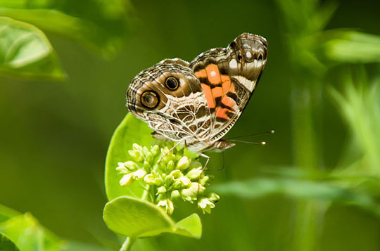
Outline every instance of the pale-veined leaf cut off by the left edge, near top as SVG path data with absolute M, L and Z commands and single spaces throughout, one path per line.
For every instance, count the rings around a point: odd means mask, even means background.
M 0 75 L 65 79 L 44 33 L 25 22 L 0 17 Z

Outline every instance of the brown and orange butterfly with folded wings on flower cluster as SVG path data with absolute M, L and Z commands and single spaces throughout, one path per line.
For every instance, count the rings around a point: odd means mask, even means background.
M 132 79 L 127 107 L 156 139 L 196 153 L 231 148 L 234 143 L 222 137 L 246 108 L 267 55 L 265 38 L 243 33 L 227 48 L 205 51 L 190 63 L 162 60 Z

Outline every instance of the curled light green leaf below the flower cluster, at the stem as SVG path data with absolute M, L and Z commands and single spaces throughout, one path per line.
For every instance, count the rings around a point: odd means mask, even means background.
M 160 233 L 177 233 L 201 238 L 201 220 L 191 214 L 177 224 L 151 202 L 128 196 L 115 198 L 106 204 L 103 219 L 108 228 L 133 238 L 157 236 Z

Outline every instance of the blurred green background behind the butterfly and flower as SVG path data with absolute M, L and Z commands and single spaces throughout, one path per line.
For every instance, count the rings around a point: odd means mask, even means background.
M 238 143 L 224 161 L 212 155 L 210 169 L 224 162 L 211 172 L 221 200 L 201 215 L 201 240 L 166 234 L 135 250 L 379 250 L 379 9 L 370 0 L 0 1 L 0 15 L 46 34 L 66 75 L 0 73 L 0 203 L 88 250 L 117 250 L 122 240 L 102 219 L 103 172 L 130 80 L 251 32 L 267 38 L 269 58 L 227 137 L 276 133 L 245 138 L 267 145 Z

